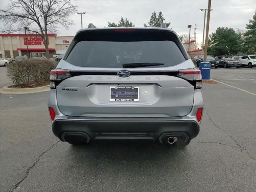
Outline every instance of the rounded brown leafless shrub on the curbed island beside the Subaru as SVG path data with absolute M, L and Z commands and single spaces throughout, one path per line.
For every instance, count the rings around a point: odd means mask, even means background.
M 49 81 L 50 71 L 57 63 L 48 59 L 16 60 L 7 66 L 7 76 L 16 85 L 31 85 Z

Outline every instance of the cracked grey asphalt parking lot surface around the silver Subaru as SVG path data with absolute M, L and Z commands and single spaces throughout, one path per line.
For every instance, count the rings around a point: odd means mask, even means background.
M 0 86 L 8 83 L 0 68 Z M 256 68 L 211 70 L 199 135 L 159 144 L 71 146 L 52 134 L 48 92 L 0 95 L 0 190 L 246 191 L 256 188 Z

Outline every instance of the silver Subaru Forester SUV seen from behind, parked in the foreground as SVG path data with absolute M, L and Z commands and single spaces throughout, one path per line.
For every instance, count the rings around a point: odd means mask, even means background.
M 150 140 L 185 146 L 199 132 L 202 78 L 167 28 L 79 30 L 50 75 L 62 141 Z

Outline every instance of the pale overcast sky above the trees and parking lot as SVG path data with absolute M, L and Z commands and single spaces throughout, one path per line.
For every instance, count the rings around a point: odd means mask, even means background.
M 9 0 L 0 0 L 0 8 L 4 8 Z M 170 27 L 177 34 L 188 34 L 188 25 L 192 25 L 191 36 L 194 37 L 194 25 L 197 25 L 196 40 L 202 42 L 204 12 L 199 9 L 208 7 L 208 0 L 73 0 L 78 5 L 78 12 L 83 15 L 83 27 L 89 23 L 101 28 L 109 22 L 117 23 L 121 16 L 128 18 L 136 27 L 148 24 L 152 12 L 162 11 L 165 22 L 171 22 Z M 217 27 L 245 29 L 249 19 L 256 10 L 256 0 L 212 0 L 209 33 Z M 72 15 L 74 26 L 69 30 L 60 28 L 58 36 L 74 36 L 81 28 L 80 15 Z M 0 23 L 0 28 L 4 28 Z

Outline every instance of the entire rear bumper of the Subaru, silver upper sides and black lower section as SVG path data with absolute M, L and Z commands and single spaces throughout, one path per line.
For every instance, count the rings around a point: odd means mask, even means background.
M 180 117 L 117 118 L 76 117 L 62 114 L 58 108 L 56 90 L 50 91 L 48 107 L 56 114 L 52 131 L 62 141 L 82 137 L 87 142 L 94 140 L 152 140 L 164 143 L 167 136 L 177 136 L 186 142 L 199 133 L 200 122 L 196 118 L 198 108 L 204 108 L 201 90 L 194 90 L 194 104 L 190 113 Z M 203 115 L 203 114 L 202 114 Z

